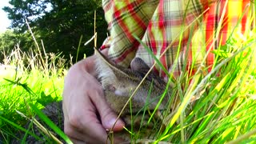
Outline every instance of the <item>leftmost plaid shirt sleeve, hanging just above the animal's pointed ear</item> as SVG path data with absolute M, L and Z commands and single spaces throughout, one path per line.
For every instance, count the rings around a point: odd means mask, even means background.
M 122 66 L 130 66 L 139 42 L 150 22 L 157 0 L 102 0 L 106 22 L 110 30 L 109 58 Z

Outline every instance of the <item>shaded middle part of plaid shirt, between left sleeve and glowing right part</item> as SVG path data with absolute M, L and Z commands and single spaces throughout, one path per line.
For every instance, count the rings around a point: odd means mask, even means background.
M 202 14 L 204 8 L 202 2 L 196 0 L 158 2 L 142 42 L 159 58 L 166 70 L 175 67 L 175 73 L 180 71 L 184 61 L 181 57 L 175 63 L 175 58 L 186 50 L 190 35 L 194 34 L 194 30 L 198 29 L 198 24 L 202 21 L 198 16 Z M 164 51 L 166 54 L 160 58 Z M 142 58 L 149 66 L 154 63 L 154 58 L 142 45 L 138 47 L 136 57 Z M 154 70 L 159 72 L 160 76 L 165 76 L 160 66 L 155 66 Z

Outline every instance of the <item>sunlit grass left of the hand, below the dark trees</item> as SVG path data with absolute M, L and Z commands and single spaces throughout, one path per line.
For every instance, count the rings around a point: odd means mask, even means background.
M 60 54 L 41 54 L 38 50 L 24 53 L 18 45 L 5 56 L 3 64 L 0 66 L 0 142 L 9 143 L 19 133 L 25 134 L 22 126 L 29 122 L 27 118 L 34 118 L 29 103 L 41 109 L 62 99 L 67 65 Z

